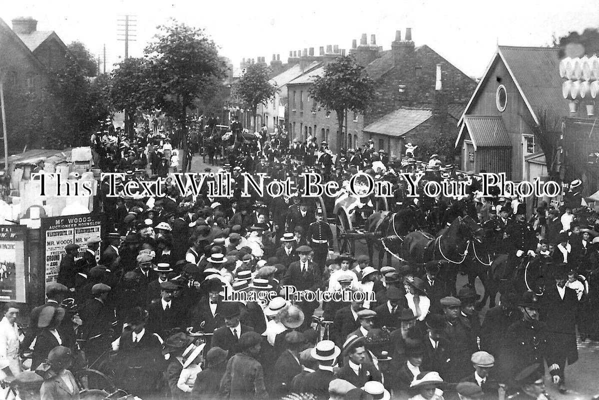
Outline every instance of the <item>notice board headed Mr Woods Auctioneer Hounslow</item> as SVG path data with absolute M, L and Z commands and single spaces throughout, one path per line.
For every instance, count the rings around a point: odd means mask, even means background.
M 75 243 L 83 252 L 87 248 L 87 239 L 102 237 L 102 216 L 80 214 L 42 218 L 41 237 L 44 243 L 47 285 L 50 282 L 56 282 L 60 260 L 65 255 L 66 245 Z M 96 260 L 98 258 L 99 249 L 96 252 Z

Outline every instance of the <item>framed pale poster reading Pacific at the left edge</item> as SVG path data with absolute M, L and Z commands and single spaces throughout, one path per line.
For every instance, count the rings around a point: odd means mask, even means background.
M 0 301 L 25 303 L 25 225 L 0 225 Z

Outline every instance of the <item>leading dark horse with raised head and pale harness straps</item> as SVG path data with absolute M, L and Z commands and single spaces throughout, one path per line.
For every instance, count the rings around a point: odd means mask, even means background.
M 427 261 L 446 261 L 447 266 L 440 272 L 440 278 L 447 282 L 450 293 L 456 294 L 456 280 L 459 265 L 467 257 L 467 249 L 473 240 L 480 240 L 482 228 L 470 216 L 458 216 L 449 227 L 429 236 L 422 231 L 408 233 L 401 243 L 401 256 L 412 265 Z

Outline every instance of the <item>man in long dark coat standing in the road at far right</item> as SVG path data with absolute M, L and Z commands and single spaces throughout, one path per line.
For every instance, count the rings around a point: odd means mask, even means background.
M 576 323 L 578 315 L 578 297 L 576 291 L 565 285 L 568 270 L 565 265 L 555 266 L 553 270 L 555 284 L 550 285 L 541 297 L 543 308 L 541 321 L 547 324 L 547 365 L 554 375 L 554 383 L 560 392 L 565 392 L 565 366 L 578 360 L 576 345 Z M 556 377 L 558 380 L 556 381 Z

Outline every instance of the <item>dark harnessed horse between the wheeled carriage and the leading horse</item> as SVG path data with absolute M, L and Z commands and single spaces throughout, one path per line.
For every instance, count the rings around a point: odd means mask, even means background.
M 368 216 L 366 227 L 372 233 L 372 239 L 367 240 L 368 255 L 373 262 L 374 247 L 379 252 L 379 268 L 387 254 L 387 263 L 391 265 L 392 252 L 390 248 L 400 248 L 403 237 L 415 230 L 426 228 L 426 219 L 422 212 L 415 207 L 406 207 L 398 212 L 375 212 Z

